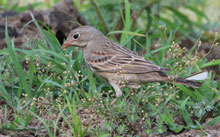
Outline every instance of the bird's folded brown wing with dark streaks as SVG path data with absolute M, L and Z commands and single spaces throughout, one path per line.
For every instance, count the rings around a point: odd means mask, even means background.
M 166 70 L 116 44 L 95 49 L 86 58 L 86 62 L 93 71 L 98 72 L 147 73 Z

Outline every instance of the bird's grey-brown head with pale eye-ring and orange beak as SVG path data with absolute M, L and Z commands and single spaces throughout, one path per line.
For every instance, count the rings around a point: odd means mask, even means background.
M 103 36 L 102 33 L 91 26 L 82 26 L 76 28 L 70 32 L 62 49 L 69 46 L 76 46 L 79 48 L 85 48 L 88 43 L 98 37 Z

